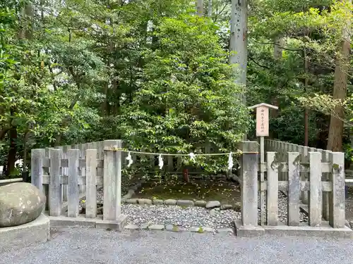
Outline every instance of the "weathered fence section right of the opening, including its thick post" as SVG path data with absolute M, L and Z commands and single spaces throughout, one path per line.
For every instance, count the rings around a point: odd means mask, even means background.
M 275 149 L 278 142 L 268 141 L 268 149 Z M 282 144 L 282 142 L 280 143 Z M 298 227 L 300 224 L 300 194 L 309 194 L 309 226 L 323 225 L 323 215 L 334 228 L 345 227 L 345 174 L 344 153 L 330 151 L 299 152 L 299 146 L 289 146 L 289 152 L 266 152 L 265 163 L 260 163 L 260 170 L 265 172 L 265 180 L 258 182 L 258 143 L 246 142 L 241 157 L 241 199 L 243 227 L 258 225 L 258 190 L 265 192 L 266 226 L 279 226 L 278 191 L 285 191 L 288 196 L 287 226 Z M 299 150 L 299 151 L 298 151 Z M 324 154 L 328 153 L 328 157 Z M 303 161 L 301 155 L 306 155 Z M 283 174 L 285 173 L 285 174 Z M 281 175 L 282 174 L 282 175 Z M 306 175 L 301 177 L 301 175 Z M 325 175 L 325 176 L 324 176 Z M 328 194 L 326 200 L 323 193 Z M 263 208 L 263 206 L 261 206 Z M 324 212 L 327 210 L 327 212 Z

